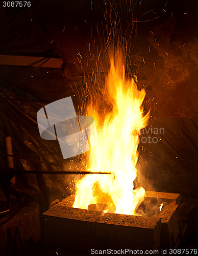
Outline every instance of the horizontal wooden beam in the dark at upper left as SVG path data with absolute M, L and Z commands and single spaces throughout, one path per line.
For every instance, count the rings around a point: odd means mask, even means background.
M 0 65 L 38 67 L 44 60 L 46 60 L 46 57 L 0 55 Z M 63 68 L 63 60 L 61 58 L 51 58 L 41 68 L 61 69 Z

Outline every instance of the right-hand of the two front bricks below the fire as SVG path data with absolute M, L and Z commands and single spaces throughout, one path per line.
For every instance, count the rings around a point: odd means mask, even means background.
M 95 224 L 96 244 L 103 248 L 160 248 L 160 230 L 160 218 L 107 213 Z

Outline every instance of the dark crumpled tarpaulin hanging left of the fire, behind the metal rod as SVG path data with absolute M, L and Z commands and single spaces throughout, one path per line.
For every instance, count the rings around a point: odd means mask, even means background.
M 27 158 L 15 158 L 17 169 L 38 172 L 39 170 L 77 170 L 78 157 L 64 160 L 58 141 L 48 141 L 40 137 L 36 114 L 47 103 L 49 102 L 27 100 L 15 93 L 9 93 L 1 98 L 0 151 L 6 153 L 4 137 L 11 136 L 13 155 Z M 5 165 L 5 162 L 6 156 L 0 155 L 0 165 Z M 73 178 L 79 175 L 26 174 L 18 177 L 26 181 L 27 186 L 37 191 L 41 203 L 47 207 L 51 201 L 60 198 L 63 194 L 69 195 L 71 187 L 69 182 L 71 183 Z

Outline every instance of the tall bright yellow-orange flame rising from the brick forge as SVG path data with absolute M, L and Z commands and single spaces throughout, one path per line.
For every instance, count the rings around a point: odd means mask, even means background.
M 88 106 L 88 115 L 96 123 L 98 142 L 90 150 L 87 170 L 112 175 L 86 175 L 76 184 L 73 207 L 87 209 L 90 204 L 106 204 L 108 212 L 134 215 L 136 206 L 144 199 L 144 188 L 134 189 L 133 182 L 137 176 L 140 130 L 145 127 L 149 113 L 143 116 L 145 91 L 137 89 L 134 79 L 125 77 L 125 59 L 119 51 L 110 63 L 106 88 L 112 111 L 101 114 L 93 103 Z

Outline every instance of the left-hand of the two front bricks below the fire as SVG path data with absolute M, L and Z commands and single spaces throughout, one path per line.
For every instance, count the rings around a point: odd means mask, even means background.
M 68 248 L 95 247 L 95 221 L 103 211 L 91 211 L 58 203 L 42 215 L 43 242 Z

